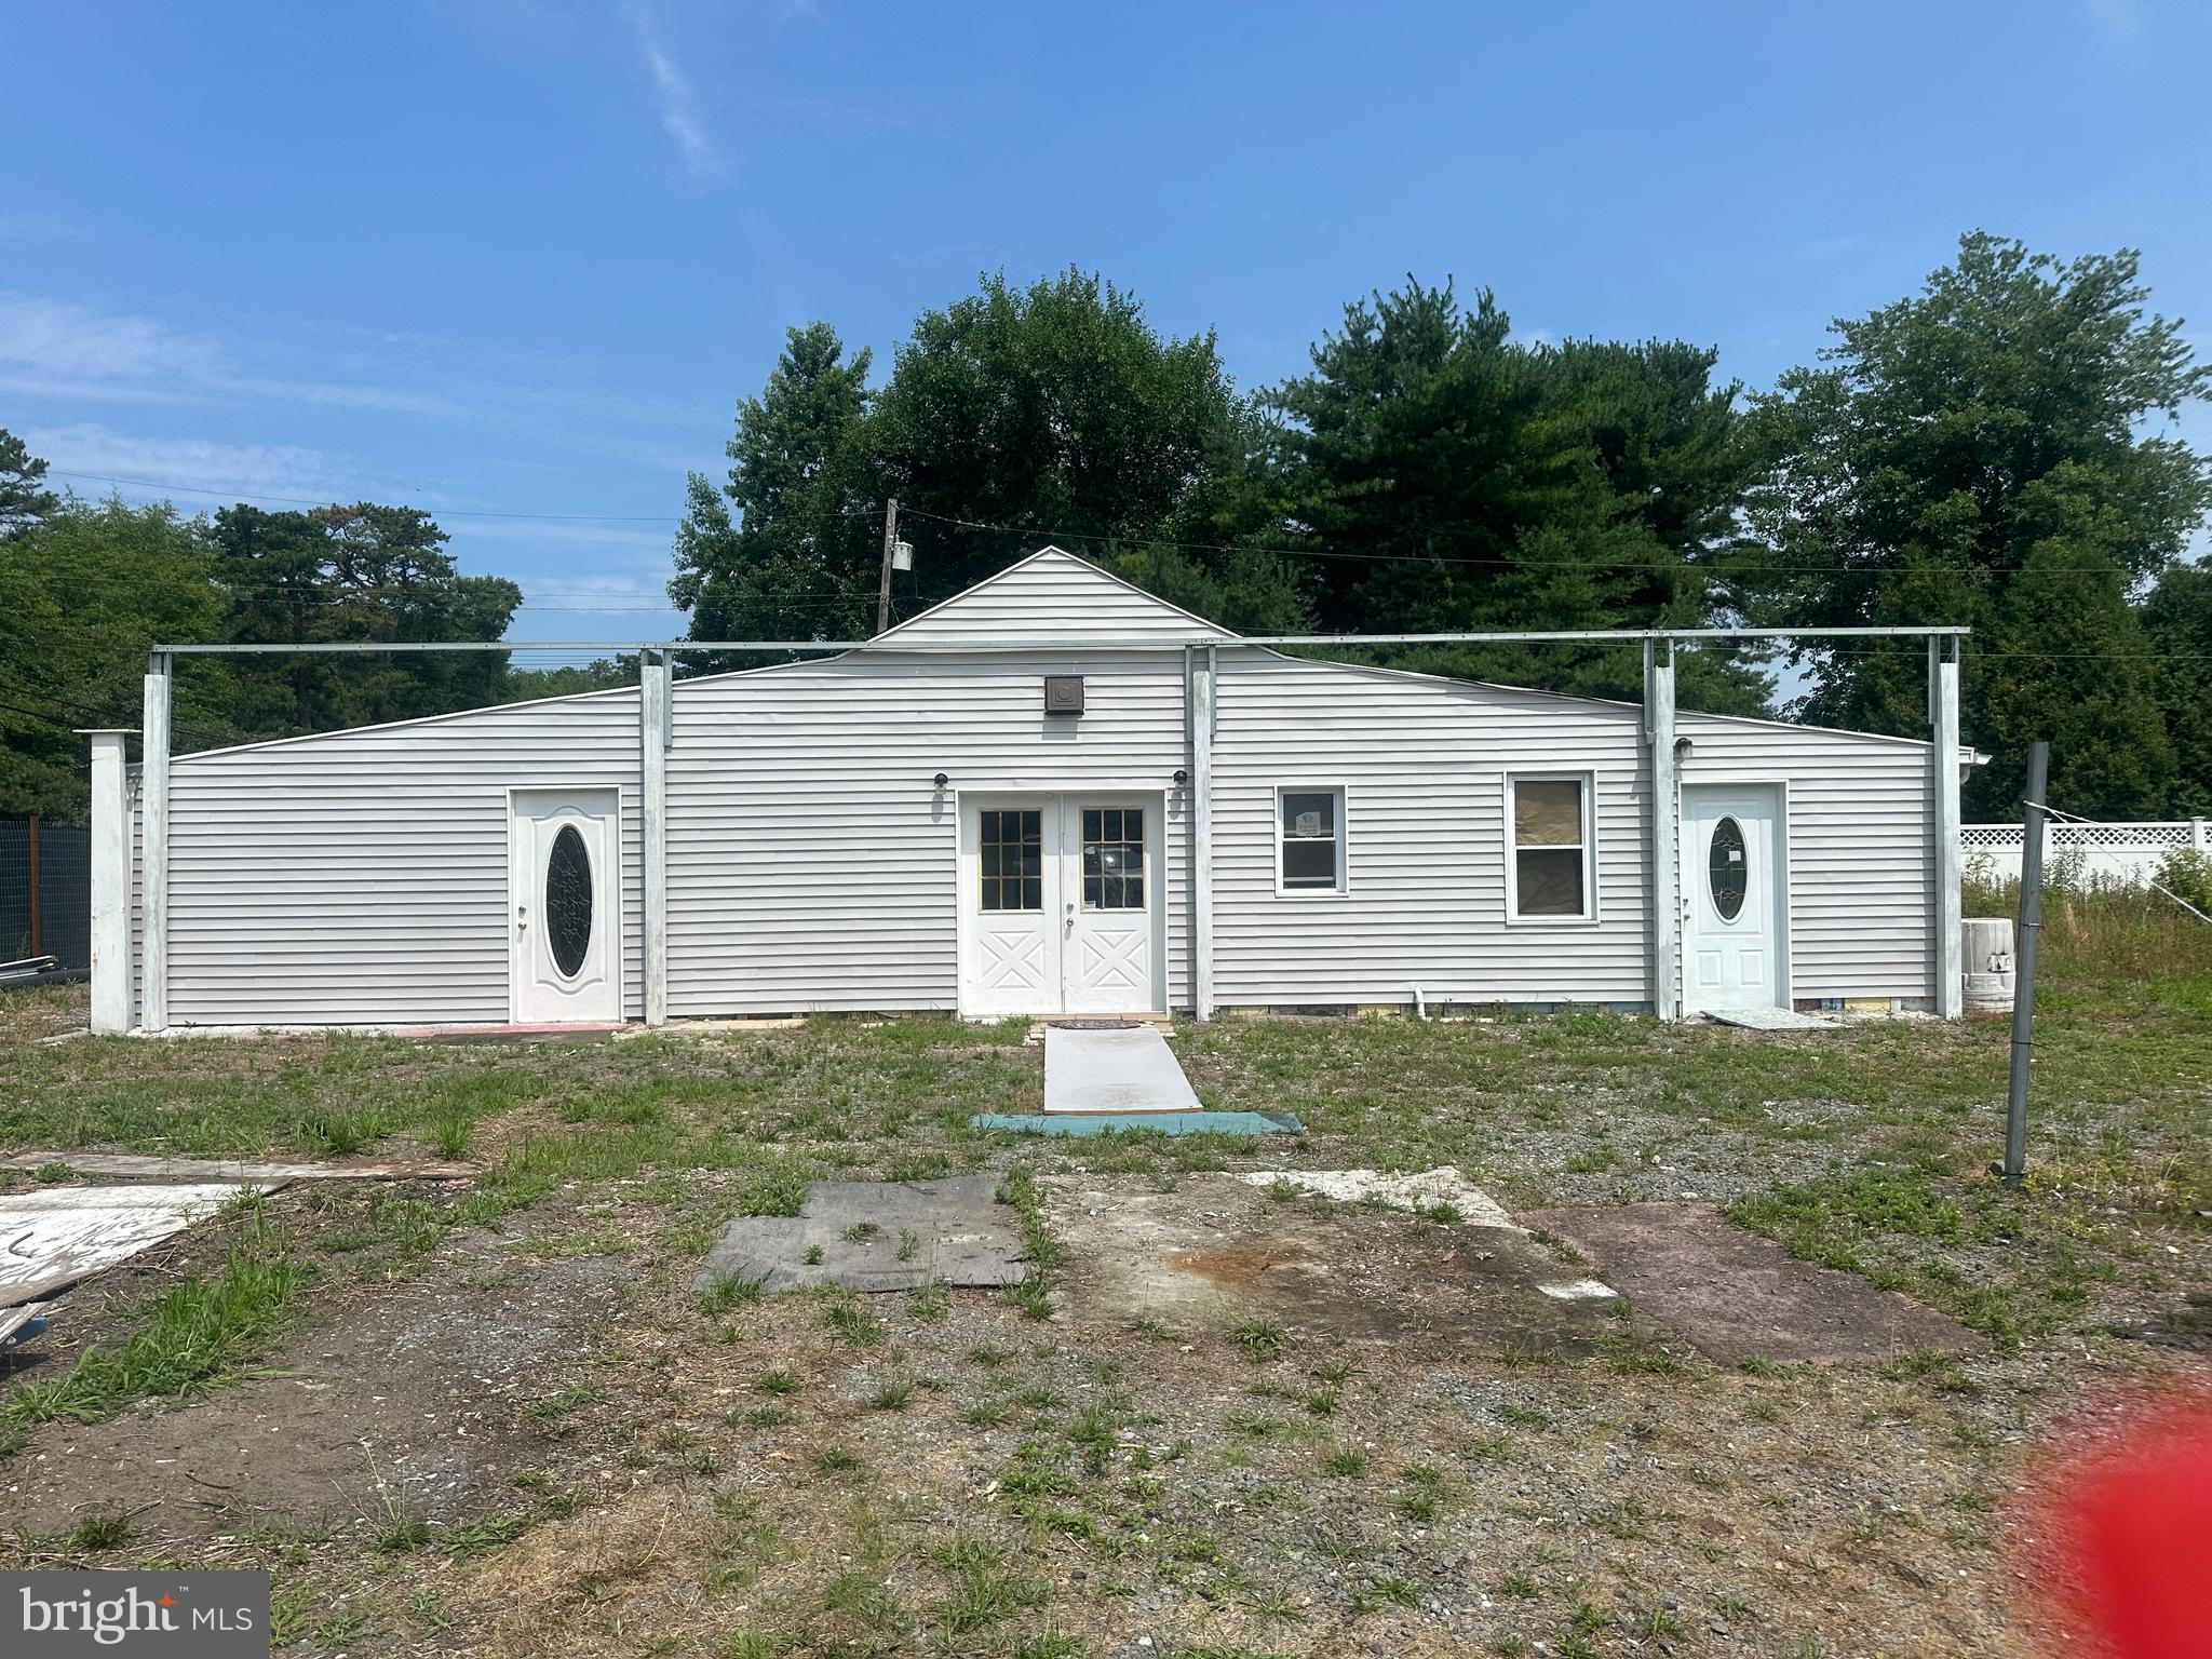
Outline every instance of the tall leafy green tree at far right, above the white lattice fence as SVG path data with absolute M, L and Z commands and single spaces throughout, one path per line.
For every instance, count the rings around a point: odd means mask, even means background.
M 2146 301 L 2130 250 L 2062 261 L 1975 232 L 1920 294 L 1836 321 L 1823 367 L 1754 400 L 1770 473 L 1736 593 L 1776 626 L 1973 626 L 1964 728 L 1993 761 L 1971 814 L 2011 814 L 2037 737 L 2053 803 L 2163 805 L 2172 754 L 2130 597 L 2212 504 L 2205 462 L 2150 429 L 2212 369 Z M 1805 717 L 1927 730 L 1918 641 L 1801 664 Z

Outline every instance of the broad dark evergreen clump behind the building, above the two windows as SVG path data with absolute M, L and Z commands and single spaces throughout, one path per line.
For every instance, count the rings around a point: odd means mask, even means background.
M 1747 482 L 1734 385 L 1681 343 L 1522 345 L 1484 290 L 1451 285 L 1345 307 L 1314 369 L 1270 394 L 1292 531 L 1318 566 L 1327 628 L 1690 626 L 1699 560 Z M 1637 695 L 1639 653 L 1453 648 L 1398 657 L 1557 690 Z M 1752 710 L 1765 681 L 1717 653 L 1683 695 Z

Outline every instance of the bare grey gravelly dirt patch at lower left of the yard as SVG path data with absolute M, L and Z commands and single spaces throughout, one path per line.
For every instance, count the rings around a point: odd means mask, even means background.
M 511 1261 L 526 1248 L 491 1239 L 434 1276 L 352 1287 L 254 1376 L 188 1409 L 46 1425 L 7 1469 L 0 1526 L 58 1531 L 97 1506 L 204 1540 L 493 1506 L 551 1451 L 526 1407 L 588 1380 L 591 1338 L 635 1279 L 602 1256 Z

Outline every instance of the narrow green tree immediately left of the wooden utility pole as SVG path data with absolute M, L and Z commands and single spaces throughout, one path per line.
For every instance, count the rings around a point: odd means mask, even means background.
M 790 330 L 768 387 L 737 405 L 728 482 L 690 476 L 668 595 L 692 613 L 692 639 L 874 628 L 883 498 L 863 438 L 867 369 L 869 352 L 847 358 L 827 323 Z

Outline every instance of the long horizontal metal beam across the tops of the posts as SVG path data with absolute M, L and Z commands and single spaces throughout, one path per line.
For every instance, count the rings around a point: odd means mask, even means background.
M 301 646 L 155 646 L 184 657 L 378 655 L 392 650 L 1181 650 L 1183 646 L 1259 646 L 1267 650 L 1329 646 L 1637 646 L 1646 639 L 1964 639 L 1973 628 L 1493 628 L 1482 633 L 1272 633 L 1272 635 L 1106 635 L 1097 639 L 323 639 Z

